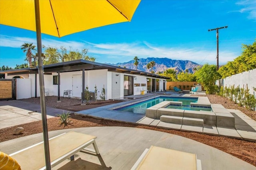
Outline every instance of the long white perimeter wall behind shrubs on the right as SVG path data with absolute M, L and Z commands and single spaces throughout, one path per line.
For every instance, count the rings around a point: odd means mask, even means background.
M 253 94 L 254 96 L 256 96 L 256 92 L 253 90 L 252 87 L 256 88 L 256 68 L 246 71 L 246 72 L 241 72 L 239 74 L 235 74 L 226 78 L 222 78 L 220 80 L 216 81 L 216 84 L 220 86 L 227 86 L 230 87 L 232 85 L 235 86 L 235 88 L 237 86 L 240 86 L 240 88 L 242 88 L 244 86 L 244 88 L 246 89 L 246 85 L 248 86 L 248 89 L 250 90 L 250 94 Z

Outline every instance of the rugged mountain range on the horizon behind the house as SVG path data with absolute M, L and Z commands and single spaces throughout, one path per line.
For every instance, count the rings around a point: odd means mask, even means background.
M 157 72 L 163 72 L 164 70 L 168 68 L 172 68 L 178 72 L 184 71 L 188 69 L 188 72 L 193 73 L 194 68 L 197 66 L 200 66 L 198 63 L 194 63 L 189 60 L 172 60 L 168 58 L 154 58 L 154 57 L 149 57 L 146 59 L 139 59 L 138 61 L 138 67 L 137 70 L 140 71 L 145 71 L 145 72 L 150 72 L 151 68 L 147 68 L 147 64 L 150 63 L 150 61 L 154 61 L 156 65 L 153 67 L 153 70 L 155 73 Z M 106 63 L 110 64 L 110 63 Z M 116 64 L 110 64 L 114 66 L 120 66 L 120 67 L 125 67 L 129 69 L 136 70 L 136 66 L 134 65 L 134 60 L 124 62 L 124 63 L 116 63 Z

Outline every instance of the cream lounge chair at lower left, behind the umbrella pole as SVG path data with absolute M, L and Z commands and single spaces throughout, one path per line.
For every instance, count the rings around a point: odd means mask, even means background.
M 74 160 L 74 154 L 81 150 L 100 154 L 96 138 L 82 133 L 68 132 L 49 139 L 51 166 L 54 167 L 69 157 L 70 160 Z M 86 148 L 91 144 L 94 150 Z M 43 142 L 10 154 L 10 156 L 20 164 L 22 170 L 46 169 Z

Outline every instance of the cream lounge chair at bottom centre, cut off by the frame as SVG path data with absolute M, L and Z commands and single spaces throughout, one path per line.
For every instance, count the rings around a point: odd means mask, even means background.
M 146 149 L 131 170 L 201 170 L 196 154 L 151 146 Z

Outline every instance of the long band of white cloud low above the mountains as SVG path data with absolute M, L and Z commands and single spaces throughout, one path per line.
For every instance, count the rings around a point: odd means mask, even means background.
M 10 37 L 0 35 L 0 46 L 20 48 L 23 43 L 34 43 L 35 39 L 26 37 Z M 81 51 L 88 49 L 88 55 L 95 57 L 99 63 L 122 63 L 130 61 L 134 56 L 138 58 L 158 57 L 176 60 L 190 60 L 199 64 L 216 63 L 216 50 L 206 50 L 197 48 L 167 47 L 150 44 L 148 42 L 134 43 L 91 43 L 77 41 L 57 41 L 52 39 L 42 39 L 42 44 L 46 47 L 72 47 L 73 50 Z M 231 51 L 220 51 L 219 63 L 225 64 L 232 61 L 238 55 Z

